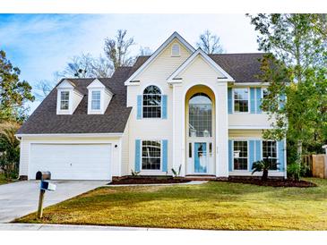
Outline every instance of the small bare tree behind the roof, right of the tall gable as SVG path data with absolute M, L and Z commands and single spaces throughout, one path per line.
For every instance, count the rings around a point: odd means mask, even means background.
M 205 30 L 199 38 L 196 46 L 201 47 L 208 55 L 224 53 L 224 49 L 220 44 L 220 38 L 212 34 L 210 30 Z

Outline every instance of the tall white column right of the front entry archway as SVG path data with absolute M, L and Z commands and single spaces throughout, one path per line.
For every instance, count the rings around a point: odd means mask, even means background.
M 218 82 L 216 97 L 216 176 L 228 177 L 228 86 Z

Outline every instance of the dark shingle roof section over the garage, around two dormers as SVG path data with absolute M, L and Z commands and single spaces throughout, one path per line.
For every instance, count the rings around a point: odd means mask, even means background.
M 126 107 L 124 85 L 130 70 L 131 67 L 118 68 L 110 79 L 99 79 L 114 93 L 105 114 L 87 114 L 86 88 L 93 79 L 73 79 L 76 89 L 84 95 L 73 114 L 56 114 L 56 89 L 53 89 L 17 134 L 123 132 L 132 110 Z

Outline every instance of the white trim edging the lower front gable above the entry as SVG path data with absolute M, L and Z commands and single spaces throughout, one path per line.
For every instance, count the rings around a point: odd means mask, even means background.
M 215 63 L 211 57 L 209 57 L 207 54 L 205 54 L 201 48 L 198 48 L 193 55 L 191 55 L 190 57 L 188 57 L 184 63 L 182 63 L 175 72 L 173 72 L 167 79 L 168 83 L 172 84 L 172 83 L 178 83 L 180 82 L 180 80 L 177 80 L 177 75 L 181 72 L 183 72 L 186 67 L 188 65 L 190 65 L 191 63 L 194 62 L 194 59 L 196 58 L 197 55 L 201 55 L 202 58 L 204 59 L 204 61 L 208 64 L 211 65 L 211 67 L 216 70 L 217 72 L 222 73 L 225 77 L 224 78 L 218 78 L 219 81 L 234 81 L 234 79 L 228 74 L 228 72 L 224 71 L 218 63 Z

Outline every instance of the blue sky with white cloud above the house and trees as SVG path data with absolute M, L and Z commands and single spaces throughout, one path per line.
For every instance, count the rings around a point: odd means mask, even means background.
M 118 29 L 134 38 L 134 54 L 140 46 L 154 51 L 175 30 L 195 46 L 207 29 L 220 37 L 227 53 L 258 52 L 244 14 L 0 14 L 0 49 L 33 87 L 53 80 L 73 55 L 103 55 L 104 39 Z M 39 102 L 30 106 L 33 111 Z

